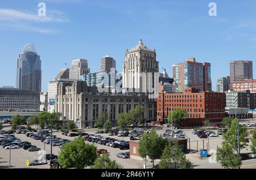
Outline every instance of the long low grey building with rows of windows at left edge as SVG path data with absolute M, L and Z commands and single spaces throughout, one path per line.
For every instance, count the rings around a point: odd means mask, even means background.
M 39 112 L 40 93 L 35 91 L 0 90 L 0 110 Z

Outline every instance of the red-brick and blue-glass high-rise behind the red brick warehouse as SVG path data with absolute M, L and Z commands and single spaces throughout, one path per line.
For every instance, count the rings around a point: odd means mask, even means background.
M 196 88 L 204 92 L 212 91 L 210 63 L 199 63 L 192 57 L 172 67 L 176 92 L 184 92 L 185 88 Z

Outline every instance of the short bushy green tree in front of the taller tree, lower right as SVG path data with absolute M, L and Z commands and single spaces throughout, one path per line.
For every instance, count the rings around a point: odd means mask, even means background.
M 228 143 L 222 143 L 221 148 L 217 148 L 217 161 L 221 163 L 224 168 L 240 168 L 242 165 L 242 160 L 240 156 L 234 153 L 232 145 Z

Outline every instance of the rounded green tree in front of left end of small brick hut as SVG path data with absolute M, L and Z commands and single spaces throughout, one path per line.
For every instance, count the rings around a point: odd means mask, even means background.
M 167 139 L 163 139 L 161 135 L 158 135 L 155 130 L 151 130 L 149 134 L 143 134 L 142 139 L 139 141 L 138 152 L 141 157 L 149 156 L 153 161 L 160 158 Z

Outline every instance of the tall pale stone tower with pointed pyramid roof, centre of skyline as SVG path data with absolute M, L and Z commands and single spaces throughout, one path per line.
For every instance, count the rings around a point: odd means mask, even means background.
M 155 49 L 147 48 L 142 40 L 139 40 L 138 45 L 126 50 L 125 62 L 123 62 L 123 88 L 135 88 L 139 89 L 139 92 L 149 92 L 148 88 L 158 87 L 159 77 L 155 77 L 154 74 L 159 72 L 158 64 Z

